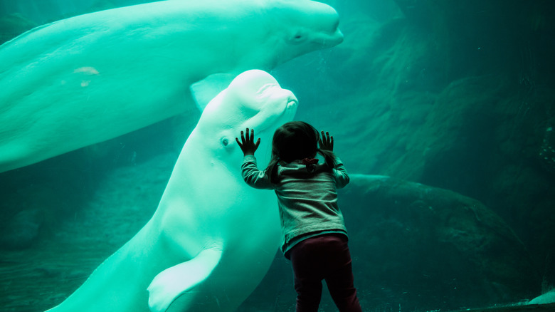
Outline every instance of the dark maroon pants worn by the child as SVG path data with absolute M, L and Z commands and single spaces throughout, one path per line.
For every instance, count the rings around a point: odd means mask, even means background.
M 297 291 L 297 312 L 317 312 L 322 279 L 340 312 L 361 312 L 353 284 L 347 236 L 326 234 L 305 239 L 290 250 Z

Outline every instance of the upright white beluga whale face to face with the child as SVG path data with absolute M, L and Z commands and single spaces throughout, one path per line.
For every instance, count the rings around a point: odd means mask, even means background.
M 152 219 L 49 311 L 235 311 L 280 241 L 275 194 L 243 182 L 235 137 L 255 129 L 262 165 L 296 110 L 270 74 L 241 73 L 203 110 Z

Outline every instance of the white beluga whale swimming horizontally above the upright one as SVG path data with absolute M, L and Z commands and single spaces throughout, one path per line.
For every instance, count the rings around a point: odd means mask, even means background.
M 243 71 L 342 42 L 338 23 L 310 0 L 169 0 L 34 28 L 0 46 L 0 172 L 203 108 Z

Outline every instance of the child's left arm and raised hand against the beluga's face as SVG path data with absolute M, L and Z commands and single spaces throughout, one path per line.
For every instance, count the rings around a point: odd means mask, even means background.
M 241 165 L 243 180 L 256 189 L 273 189 L 273 184 L 270 183 L 268 176 L 265 175 L 265 172 L 258 170 L 256 165 L 254 153 L 260 145 L 260 137 L 254 142 L 254 129 L 250 130 L 250 135 L 248 128 L 246 135 L 241 131 L 241 141 L 239 142 L 238 137 L 235 140 L 243 151 L 243 165 Z

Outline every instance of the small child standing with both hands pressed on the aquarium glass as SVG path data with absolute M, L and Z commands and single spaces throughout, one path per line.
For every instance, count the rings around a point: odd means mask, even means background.
M 285 123 L 272 141 L 272 158 L 260 171 L 256 165 L 254 130 L 236 141 L 243 151 L 243 179 L 257 189 L 274 189 L 283 230 L 282 251 L 291 260 L 297 291 L 297 312 L 316 312 L 322 279 L 341 312 L 359 312 L 347 246 L 347 229 L 337 206 L 336 189 L 349 183 L 343 163 L 333 153 L 334 139 L 302 121 Z M 318 148 L 318 143 L 319 147 Z M 324 163 L 315 157 L 319 153 Z

